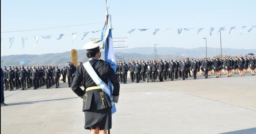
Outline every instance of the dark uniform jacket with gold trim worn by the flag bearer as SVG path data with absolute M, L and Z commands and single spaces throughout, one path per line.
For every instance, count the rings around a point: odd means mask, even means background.
M 108 62 L 103 60 L 91 59 L 89 62 L 92 65 L 92 68 L 99 76 L 99 78 L 108 85 L 108 78 L 110 79 L 111 83 L 113 84 L 113 96 L 119 96 L 119 82 L 116 77 L 114 70 L 111 68 Z M 81 82 L 83 82 L 84 90 L 80 88 Z M 100 110 L 104 108 L 111 108 L 111 100 L 107 93 L 103 92 L 101 89 L 96 90 L 89 90 L 85 92 L 86 88 L 97 86 L 95 82 L 92 80 L 88 72 L 85 70 L 83 65 L 79 65 L 76 68 L 76 75 L 71 85 L 72 90 L 78 95 L 83 96 L 84 103 L 83 103 L 83 111 L 89 110 L 90 107 L 94 107 L 93 109 Z M 97 106 L 91 106 L 92 97 L 95 100 Z M 113 98 L 113 101 L 114 101 Z M 117 99 L 118 100 L 118 99 Z

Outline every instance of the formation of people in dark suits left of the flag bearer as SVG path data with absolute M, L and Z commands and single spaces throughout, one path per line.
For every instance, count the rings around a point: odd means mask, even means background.
M 60 70 L 58 66 L 15 66 L 8 67 L 4 66 L 4 90 L 13 91 L 15 89 L 26 90 L 29 88 L 38 89 L 43 86 L 46 89 L 51 88 L 55 85 L 55 88 L 60 88 L 60 77 L 62 75 L 62 81 L 66 82 L 68 77 L 69 87 L 72 84 L 73 78 L 75 77 L 76 66 L 74 63 L 68 62 L 68 66 Z

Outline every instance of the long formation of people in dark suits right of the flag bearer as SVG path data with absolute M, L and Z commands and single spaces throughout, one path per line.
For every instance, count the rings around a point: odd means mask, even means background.
M 170 59 L 164 60 L 130 60 L 130 62 L 125 64 L 125 62 L 116 62 L 116 77 L 120 82 L 126 83 L 127 74 L 130 73 L 130 79 L 132 82 L 139 83 L 140 80 L 148 82 L 151 80 L 155 82 L 158 78 L 159 81 L 164 81 L 170 79 L 178 79 L 179 77 L 185 80 L 188 77 L 193 77 L 197 79 L 201 74 L 204 78 L 208 78 L 212 73 L 219 78 L 224 74 L 227 77 L 232 76 L 234 73 L 243 76 L 244 73 L 251 69 L 251 74 L 254 75 L 256 60 L 254 56 L 227 56 L 224 58 L 219 58 L 218 56 L 210 58 L 186 58 L 186 59 Z

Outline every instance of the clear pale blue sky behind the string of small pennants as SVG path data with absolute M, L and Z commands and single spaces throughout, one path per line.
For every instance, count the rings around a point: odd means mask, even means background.
M 128 48 L 134 47 L 204 47 L 207 38 L 208 47 L 220 47 L 219 27 L 226 27 L 221 32 L 223 48 L 256 49 L 255 0 L 108 0 L 109 13 L 112 15 L 112 34 L 114 38 L 127 37 Z M 1 32 L 17 31 L 56 26 L 79 25 L 105 21 L 105 0 L 1 0 Z M 1 33 L 1 56 L 14 54 L 60 53 L 71 49 L 82 49 L 89 38 L 99 38 L 99 33 L 89 33 L 80 40 L 83 32 L 101 30 L 103 23 L 57 28 L 38 31 Z M 236 26 L 228 35 L 231 26 Z M 242 26 L 247 26 L 243 33 Z M 198 28 L 204 28 L 195 34 Z M 215 27 L 212 36 L 210 27 Z M 149 28 L 144 32 L 130 29 Z M 155 28 L 160 30 L 154 36 Z M 164 28 L 172 28 L 163 32 Z M 177 28 L 195 28 L 191 31 Z M 57 36 L 65 33 L 61 40 Z M 72 42 L 71 33 L 77 33 Z M 49 40 L 40 38 L 34 48 L 34 36 L 53 35 Z M 9 38 L 15 37 L 9 48 Z M 21 47 L 21 37 L 28 37 L 25 49 Z M 125 50 L 124 50 L 125 52 Z

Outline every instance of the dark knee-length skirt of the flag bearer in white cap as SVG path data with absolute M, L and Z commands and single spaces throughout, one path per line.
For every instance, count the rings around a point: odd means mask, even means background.
M 97 104 L 92 97 L 91 107 L 89 110 L 84 111 L 85 124 L 84 128 L 90 130 L 96 129 L 99 126 L 100 130 L 111 129 L 111 108 L 104 108 L 97 110 Z

